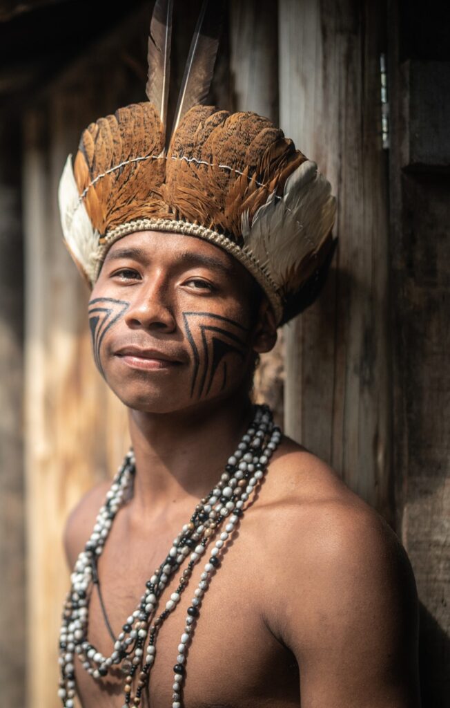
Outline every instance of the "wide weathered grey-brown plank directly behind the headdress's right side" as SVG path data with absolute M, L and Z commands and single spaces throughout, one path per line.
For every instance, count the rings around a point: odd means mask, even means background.
M 391 520 L 383 13 L 350 0 L 279 8 L 280 126 L 331 181 L 340 239 L 319 300 L 285 327 L 285 428 Z

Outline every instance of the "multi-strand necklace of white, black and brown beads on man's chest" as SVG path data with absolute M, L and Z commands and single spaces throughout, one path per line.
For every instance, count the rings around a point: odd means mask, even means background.
M 130 497 L 136 472 L 133 451 L 127 453 L 122 466 L 112 481 L 104 505 L 100 508 L 90 539 L 71 574 L 71 588 L 66 597 L 59 636 L 59 664 L 61 679 L 58 695 L 64 708 L 73 708 L 76 692 L 76 656 L 83 668 L 100 681 L 112 668 L 124 674 L 124 707 L 137 707 L 148 683 L 150 670 L 155 662 L 156 639 L 162 623 L 179 603 L 186 589 L 194 566 L 206 552 L 208 561 L 200 576 L 200 582 L 187 609 L 184 631 L 181 635 L 177 659 L 174 663 L 172 708 L 182 708 L 182 687 L 186 675 L 186 659 L 189 644 L 194 634 L 199 608 L 211 577 L 220 565 L 220 556 L 228 539 L 235 530 L 244 512 L 246 502 L 259 485 L 266 472 L 268 461 L 280 442 L 280 429 L 273 425 L 268 406 L 254 406 L 254 418 L 247 433 L 237 445 L 237 450 L 228 459 L 225 472 L 218 484 L 197 504 L 189 523 L 182 527 L 172 547 L 153 576 L 146 582 L 138 607 L 126 619 L 122 631 L 116 637 L 107 619 L 102 602 L 97 575 L 97 560 L 105 547 L 115 515 Z M 223 530 L 221 528 L 223 527 Z M 174 573 L 189 561 L 179 578 L 177 590 L 162 609 L 159 598 Z M 109 634 L 114 641 L 110 656 L 103 656 L 88 641 L 88 617 L 90 591 L 97 586 L 100 605 L 105 615 Z M 160 611 L 162 609 L 162 611 Z M 159 614 L 158 614 L 159 612 Z

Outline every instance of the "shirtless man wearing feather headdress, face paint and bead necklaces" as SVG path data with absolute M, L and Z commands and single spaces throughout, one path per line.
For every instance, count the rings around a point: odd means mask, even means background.
M 166 158 L 157 103 L 91 125 L 61 180 L 134 450 L 66 527 L 61 700 L 418 707 L 403 549 L 251 405 L 257 355 L 326 275 L 329 185 L 268 120 L 195 103 Z

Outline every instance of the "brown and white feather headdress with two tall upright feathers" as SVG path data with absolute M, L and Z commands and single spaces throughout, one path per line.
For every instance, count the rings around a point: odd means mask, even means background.
M 148 102 L 83 132 L 59 185 L 66 245 L 93 285 L 109 247 L 132 232 L 189 234 L 225 249 L 259 282 L 278 323 L 319 293 L 336 247 L 336 201 L 314 162 L 256 113 L 201 105 L 223 2 L 204 0 L 166 149 L 172 0 L 148 40 Z

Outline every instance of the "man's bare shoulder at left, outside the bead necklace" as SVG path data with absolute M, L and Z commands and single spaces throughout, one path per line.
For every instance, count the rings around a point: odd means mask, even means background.
M 105 496 L 110 486 L 111 481 L 109 480 L 96 484 L 85 493 L 66 521 L 63 542 L 70 569 L 73 568 L 78 554 L 81 553 L 85 542 L 92 533 L 98 510 L 105 502 Z

